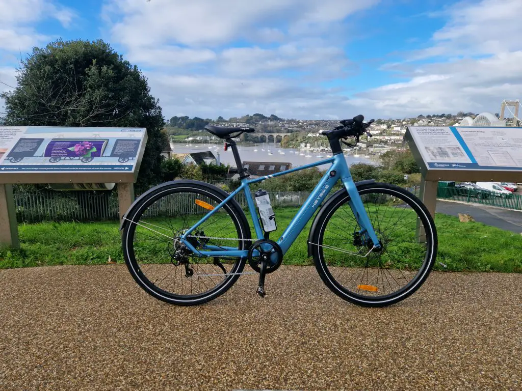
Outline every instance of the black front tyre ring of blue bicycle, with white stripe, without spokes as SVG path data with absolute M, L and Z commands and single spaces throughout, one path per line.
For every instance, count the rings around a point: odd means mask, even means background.
M 354 292 L 344 287 L 333 277 L 333 275 L 329 272 L 328 265 L 326 264 L 325 258 L 323 256 L 322 240 L 324 237 L 326 224 L 328 223 L 329 219 L 333 216 L 335 211 L 339 209 L 339 207 L 346 204 L 350 199 L 346 189 L 339 190 L 325 203 L 317 215 L 317 222 L 314 222 L 312 228 L 314 231 L 311 233 L 310 238 L 312 239 L 312 243 L 314 243 L 311 250 L 315 267 L 325 285 L 340 298 L 363 307 L 390 306 L 411 296 L 417 289 L 420 288 L 420 286 L 425 282 L 426 278 L 428 278 L 435 262 L 437 253 L 437 232 L 435 224 L 433 222 L 433 218 L 428 212 L 428 209 L 426 209 L 422 201 L 405 189 L 395 185 L 374 182 L 373 184 L 360 186 L 358 190 L 361 196 L 375 191 L 377 193 L 384 193 L 389 194 L 390 196 L 398 197 L 400 200 L 406 202 L 420 218 L 426 235 L 426 256 L 421 265 L 421 268 L 419 269 L 419 272 L 404 288 L 393 294 L 386 295 L 385 297 L 363 297 L 362 295 L 355 294 Z

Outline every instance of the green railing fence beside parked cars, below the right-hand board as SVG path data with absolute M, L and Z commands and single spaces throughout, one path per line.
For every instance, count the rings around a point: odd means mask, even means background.
M 439 185 L 437 188 L 437 198 L 453 201 L 473 202 L 488 206 L 499 206 L 505 207 L 507 209 L 522 210 L 521 194 L 513 194 L 512 197 L 503 198 L 496 196 L 493 193 L 477 193 L 477 191 L 474 191 L 472 189 Z

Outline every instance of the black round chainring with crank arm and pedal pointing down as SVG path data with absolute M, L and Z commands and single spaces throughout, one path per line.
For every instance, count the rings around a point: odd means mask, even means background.
M 279 245 L 270 239 L 260 239 L 248 250 L 248 264 L 259 273 L 257 294 L 265 297 L 265 276 L 275 272 L 283 261 L 283 251 Z

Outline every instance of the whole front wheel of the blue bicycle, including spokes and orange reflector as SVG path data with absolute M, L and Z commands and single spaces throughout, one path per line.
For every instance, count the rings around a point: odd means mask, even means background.
M 312 249 L 323 282 L 342 299 L 365 307 L 404 300 L 428 277 L 437 253 L 437 233 L 428 210 L 398 186 L 374 183 L 359 188 L 366 213 L 382 246 L 373 243 L 337 192 L 317 216 Z

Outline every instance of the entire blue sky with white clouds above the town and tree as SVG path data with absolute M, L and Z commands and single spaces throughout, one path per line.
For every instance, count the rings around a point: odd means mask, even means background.
M 520 0 L 0 0 L 0 90 L 33 46 L 101 38 L 166 118 L 496 113 L 522 98 L 520 15 Z

